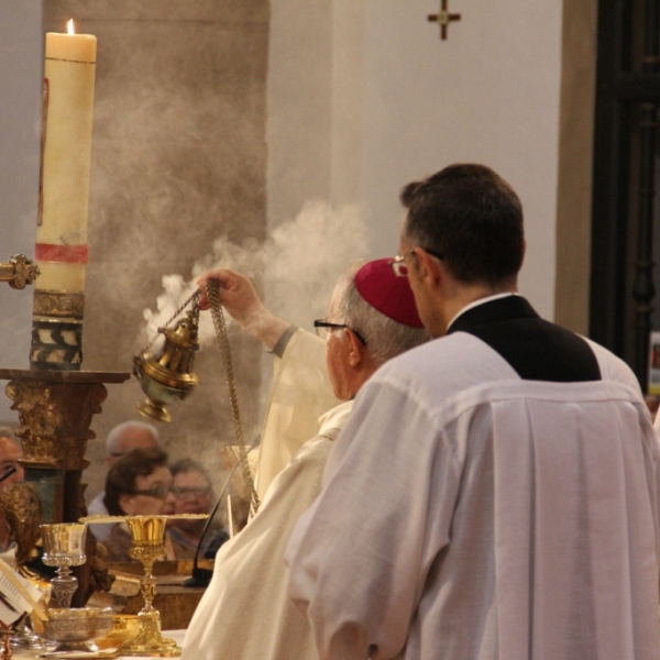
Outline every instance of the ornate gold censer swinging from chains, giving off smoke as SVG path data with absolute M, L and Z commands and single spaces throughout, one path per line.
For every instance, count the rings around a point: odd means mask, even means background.
M 193 364 L 195 353 L 199 350 L 198 299 L 199 292 L 184 304 L 185 307 L 191 301 L 193 309 L 174 329 L 158 328 L 158 333 L 165 337 L 158 353 L 150 354 L 147 346 L 140 355 L 133 358 L 133 375 L 147 397 L 138 404 L 138 410 L 144 417 L 156 421 L 172 421 L 165 406 L 185 399 L 197 387 L 198 380 L 193 373 Z

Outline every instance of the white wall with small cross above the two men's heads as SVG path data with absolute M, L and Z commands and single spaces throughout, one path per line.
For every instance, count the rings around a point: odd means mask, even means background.
M 438 4 L 272 1 L 270 223 L 310 196 L 360 202 L 372 256 L 393 254 L 404 184 L 450 163 L 485 163 L 522 199 L 520 288 L 552 318 L 561 3 L 450 0 L 462 20 L 448 41 L 427 21 Z

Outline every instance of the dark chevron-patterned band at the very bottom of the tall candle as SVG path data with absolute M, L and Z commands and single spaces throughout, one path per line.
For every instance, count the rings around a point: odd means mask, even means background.
M 82 322 L 32 319 L 30 369 L 80 371 Z

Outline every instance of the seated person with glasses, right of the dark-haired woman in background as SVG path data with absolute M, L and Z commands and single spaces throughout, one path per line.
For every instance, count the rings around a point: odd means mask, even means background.
M 182 459 L 170 466 L 174 514 L 209 514 L 215 501 L 211 480 L 193 459 Z M 194 559 L 207 524 L 201 519 L 175 519 L 167 528 L 177 559 Z M 211 524 L 199 548 L 199 558 L 212 559 L 229 535 Z

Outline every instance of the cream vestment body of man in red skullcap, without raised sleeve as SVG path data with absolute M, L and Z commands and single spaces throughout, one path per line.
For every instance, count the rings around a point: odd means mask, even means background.
M 256 516 L 216 557 L 213 578 L 184 641 L 184 660 L 316 660 L 309 623 L 286 593 L 284 551 L 294 525 L 321 490 L 332 440 L 353 402 L 320 419 L 319 436 L 304 443 L 275 477 Z

